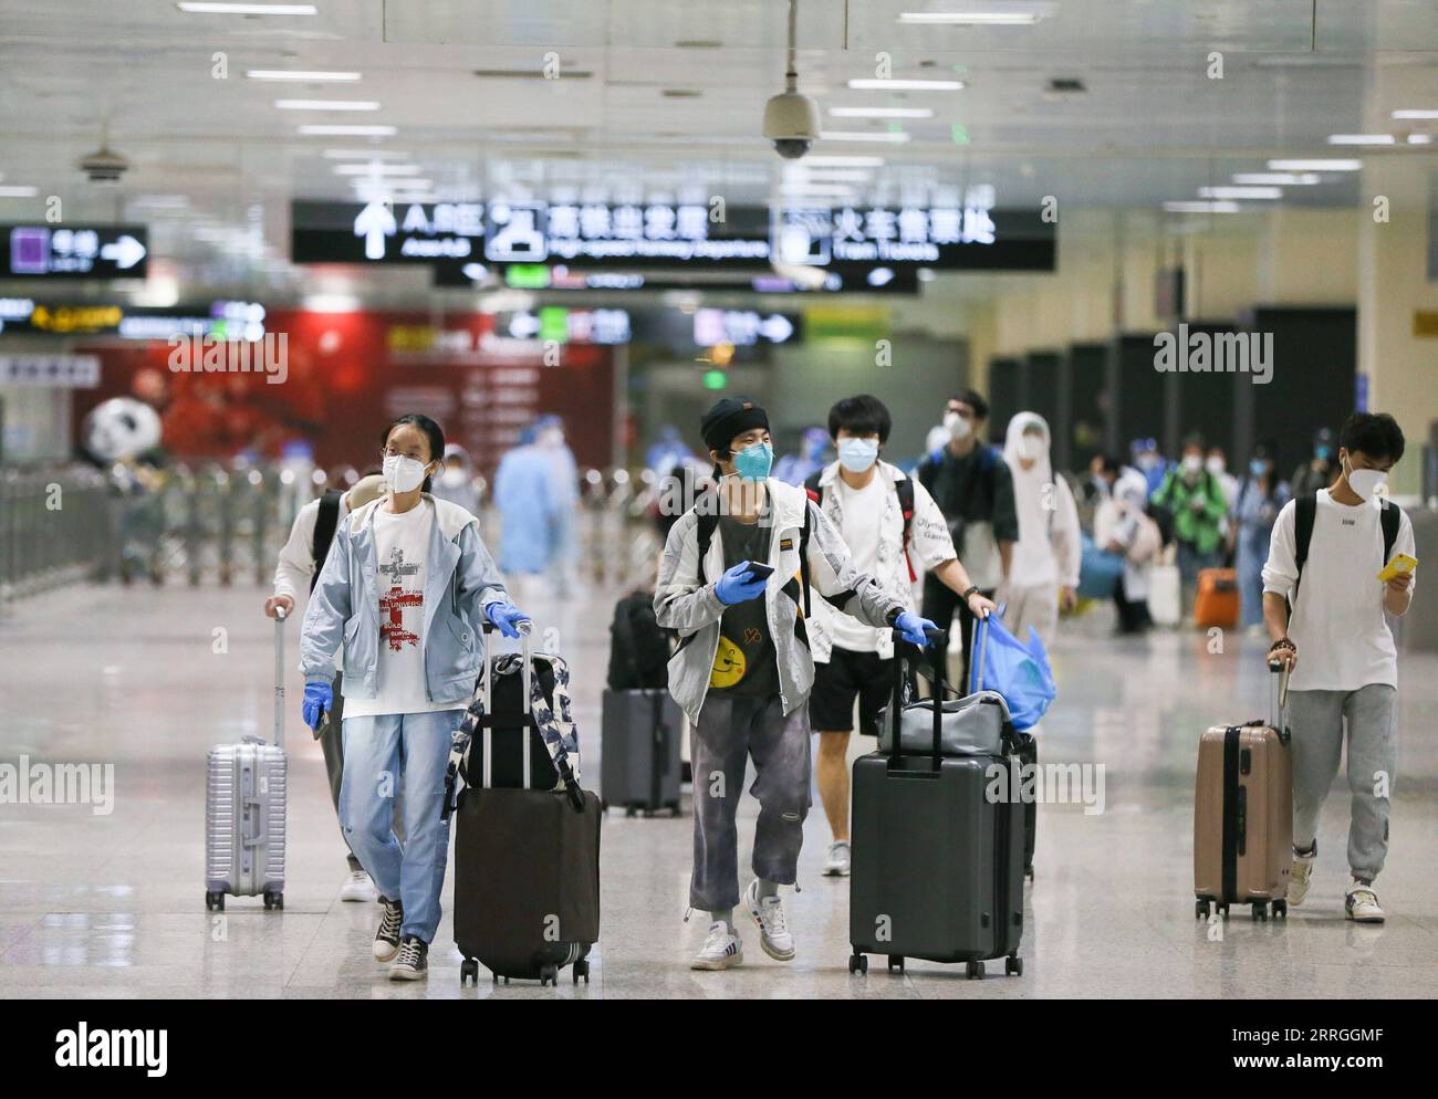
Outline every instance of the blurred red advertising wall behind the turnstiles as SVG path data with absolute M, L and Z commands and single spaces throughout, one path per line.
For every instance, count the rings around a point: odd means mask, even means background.
M 206 346 L 101 342 L 101 385 L 78 391 L 75 428 L 101 401 L 152 404 L 175 458 L 279 457 L 308 442 L 324 467 L 377 464 L 380 434 L 423 412 L 486 474 L 521 432 L 558 415 L 581 467 L 611 464 L 614 355 L 601 345 L 498 336 L 487 315 L 276 309 L 240 363 Z

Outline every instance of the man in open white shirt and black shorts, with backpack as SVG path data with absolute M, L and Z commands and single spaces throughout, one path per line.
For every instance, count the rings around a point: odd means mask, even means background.
M 811 476 L 810 500 L 844 539 L 854 565 L 876 578 L 906 606 L 916 579 L 912 557 L 979 616 L 994 609 L 969 582 L 953 552 L 949 526 L 929 491 L 897 465 L 879 460 L 893 418 L 876 397 L 846 397 L 828 409 L 828 434 L 838 461 Z M 874 629 L 825 611 L 823 600 L 810 621 L 814 694 L 810 725 L 818 733 L 818 793 L 834 840 L 824 873 L 848 875 L 848 736 L 858 700 L 858 731 L 879 736 L 879 711 L 893 694 L 894 644 L 887 629 Z

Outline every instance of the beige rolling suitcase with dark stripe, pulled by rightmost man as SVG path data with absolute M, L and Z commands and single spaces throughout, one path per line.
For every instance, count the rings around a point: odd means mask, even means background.
M 1288 914 L 1293 869 L 1293 759 L 1283 717 L 1288 674 L 1271 667 L 1267 723 L 1214 725 L 1198 744 L 1194 790 L 1195 915 L 1252 905 L 1254 919 Z

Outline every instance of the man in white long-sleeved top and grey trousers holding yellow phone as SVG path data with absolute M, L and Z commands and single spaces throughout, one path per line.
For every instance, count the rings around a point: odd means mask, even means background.
M 1396 759 L 1398 651 L 1383 612 L 1402 615 L 1414 598 L 1411 573 L 1378 579 L 1393 553 L 1414 556 L 1412 523 L 1379 491 L 1402 455 L 1403 432 L 1391 415 L 1349 417 L 1339 440 L 1339 478 L 1284 504 L 1263 570 L 1264 622 L 1273 638 L 1267 659 L 1293 669 L 1288 904 L 1303 904 L 1309 892 L 1319 812 L 1339 769 L 1346 721 L 1353 879 L 1345 914 L 1362 924 L 1383 922 L 1373 879 L 1388 855 Z

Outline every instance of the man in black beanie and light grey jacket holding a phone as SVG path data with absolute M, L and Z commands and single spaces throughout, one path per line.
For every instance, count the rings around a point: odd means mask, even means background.
M 814 685 L 802 603 L 805 588 L 870 626 L 926 644 L 933 623 L 905 611 L 848 549 L 802 488 L 769 477 L 774 447 L 765 411 L 728 397 L 702 418 L 718 488 L 669 532 L 654 615 L 676 629 L 669 688 L 693 723 L 695 863 L 689 902 L 709 914 L 709 937 L 690 963 L 726 970 L 743 961 L 733 927 L 739 902 L 735 815 L 748 757 L 758 779 L 754 873 L 743 901 L 759 945 L 794 957 L 779 899 L 792 885 L 810 807 L 808 701 Z

